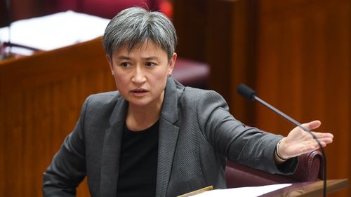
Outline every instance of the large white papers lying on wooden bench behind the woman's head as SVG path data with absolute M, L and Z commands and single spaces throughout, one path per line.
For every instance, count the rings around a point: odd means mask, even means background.
M 11 24 L 11 43 L 53 50 L 102 36 L 109 19 L 66 11 Z M 0 41 L 8 41 L 8 27 L 0 28 Z

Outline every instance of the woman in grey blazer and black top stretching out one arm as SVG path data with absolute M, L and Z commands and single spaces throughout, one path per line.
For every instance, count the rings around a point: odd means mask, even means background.
M 44 173 L 44 196 L 74 196 L 88 177 L 91 196 L 178 196 L 225 188 L 225 163 L 292 173 L 296 156 L 318 148 L 294 128 L 288 137 L 246 128 L 214 91 L 171 77 L 176 30 L 163 14 L 128 8 L 102 40 L 118 91 L 86 99 L 76 127 Z M 304 124 L 313 130 L 319 121 Z M 330 133 L 315 133 L 321 144 Z

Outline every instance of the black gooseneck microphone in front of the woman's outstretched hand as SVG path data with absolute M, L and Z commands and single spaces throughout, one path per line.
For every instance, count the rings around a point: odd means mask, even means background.
M 312 135 L 312 137 L 314 138 L 314 140 L 316 140 L 316 142 L 319 145 L 319 148 L 321 149 L 322 155 L 323 155 L 323 159 L 322 159 L 322 163 L 324 165 L 324 175 L 323 175 L 323 196 L 326 196 L 326 154 L 324 152 L 324 149 L 322 147 L 322 144 L 319 142 L 319 140 L 317 139 L 317 137 L 312 133 L 311 130 L 305 128 L 303 125 L 301 125 L 301 123 L 299 123 L 298 121 L 294 120 L 293 118 L 291 118 L 290 116 L 284 114 L 282 111 L 279 111 L 279 109 L 273 107 L 272 105 L 268 104 L 267 102 L 265 102 L 264 100 L 260 99 L 260 97 L 257 96 L 257 93 L 255 90 L 249 88 L 249 86 L 246 86 L 245 84 L 240 84 L 237 88 L 237 93 L 239 93 L 239 95 L 243 96 L 244 98 L 246 98 L 246 100 L 250 100 L 250 101 L 255 101 L 257 100 L 258 102 L 260 102 L 260 104 L 263 104 L 265 107 L 267 107 L 268 109 L 271 109 L 272 111 L 274 111 L 275 113 L 279 114 L 279 116 L 282 116 L 283 118 L 285 118 L 286 120 L 288 120 L 289 122 L 293 123 L 294 125 L 298 126 L 299 128 L 305 130 L 307 133 L 310 133 Z

